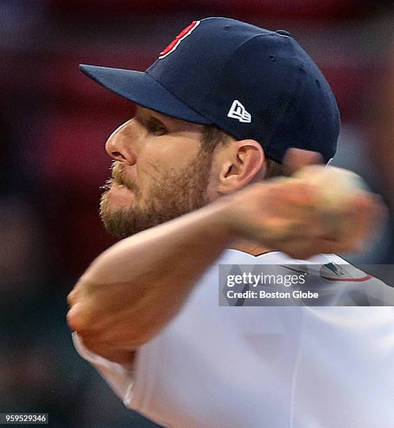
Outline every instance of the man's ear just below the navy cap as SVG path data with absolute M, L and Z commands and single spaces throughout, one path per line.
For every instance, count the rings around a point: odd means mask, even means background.
M 235 141 L 227 145 L 220 158 L 217 191 L 221 194 L 233 193 L 264 176 L 264 150 L 255 140 Z

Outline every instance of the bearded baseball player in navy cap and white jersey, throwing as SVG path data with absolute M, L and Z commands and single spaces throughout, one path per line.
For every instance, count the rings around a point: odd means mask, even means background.
M 334 253 L 377 222 L 374 198 L 350 195 L 332 213 L 348 225 L 338 234 L 317 187 L 284 177 L 327 163 L 340 130 L 294 38 L 212 17 L 145 72 L 81 69 L 137 113 L 105 145 L 101 217 L 121 239 L 69 296 L 80 355 L 167 427 L 393 427 L 393 308 L 218 304 L 219 264 L 346 265 Z

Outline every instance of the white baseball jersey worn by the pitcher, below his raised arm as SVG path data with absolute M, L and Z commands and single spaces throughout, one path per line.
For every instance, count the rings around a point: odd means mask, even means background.
M 346 264 L 336 255 L 308 262 Z M 300 261 L 224 251 L 133 368 L 94 355 L 74 334 L 127 407 L 166 427 L 394 427 L 394 308 L 222 307 L 219 263 Z

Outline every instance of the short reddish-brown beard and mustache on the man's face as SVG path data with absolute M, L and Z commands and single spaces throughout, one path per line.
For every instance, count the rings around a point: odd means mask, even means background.
M 107 191 L 100 201 L 100 216 L 105 229 L 122 239 L 207 205 L 211 165 L 212 152 L 201 148 L 194 161 L 179 171 L 152 169 L 154 176 L 143 201 L 140 187 L 124 180 L 119 162 L 114 162 L 114 179 L 108 180 L 104 186 Z M 114 208 L 110 204 L 108 190 L 113 181 L 133 191 L 130 206 Z

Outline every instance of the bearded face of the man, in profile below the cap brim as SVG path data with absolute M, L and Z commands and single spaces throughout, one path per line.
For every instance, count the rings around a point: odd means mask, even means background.
M 111 234 L 125 238 L 207 204 L 212 153 L 201 145 L 203 129 L 138 107 L 108 138 L 115 161 L 100 215 Z

